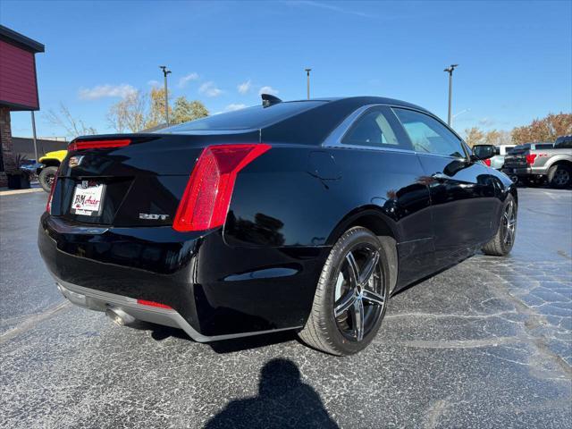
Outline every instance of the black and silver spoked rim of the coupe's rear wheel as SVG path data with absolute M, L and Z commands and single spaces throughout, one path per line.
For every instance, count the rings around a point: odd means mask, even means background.
M 349 341 L 362 341 L 379 321 L 385 305 L 383 279 L 376 248 L 360 244 L 346 254 L 334 289 L 333 315 Z

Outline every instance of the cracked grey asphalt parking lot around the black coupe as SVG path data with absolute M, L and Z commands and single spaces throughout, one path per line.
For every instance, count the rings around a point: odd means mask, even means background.
M 572 191 L 519 196 L 510 257 L 400 293 L 343 358 L 73 307 L 36 246 L 46 194 L 0 196 L 0 427 L 570 427 Z

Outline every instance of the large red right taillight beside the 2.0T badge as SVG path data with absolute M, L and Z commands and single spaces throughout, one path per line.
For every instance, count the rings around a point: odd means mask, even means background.
M 204 231 L 223 225 L 237 174 L 269 149 L 265 144 L 206 147 L 190 174 L 172 228 Z

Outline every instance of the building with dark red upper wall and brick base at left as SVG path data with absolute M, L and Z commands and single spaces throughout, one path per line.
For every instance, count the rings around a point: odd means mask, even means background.
M 44 45 L 0 25 L 0 187 L 15 167 L 10 112 L 39 110 L 38 52 Z

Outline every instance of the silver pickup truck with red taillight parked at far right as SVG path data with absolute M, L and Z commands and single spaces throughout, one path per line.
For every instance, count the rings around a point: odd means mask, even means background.
M 548 181 L 552 188 L 567 188 L 572 183 L 572 143 L 526 143 L 505 156 L 502 170 L 528 184 Z

